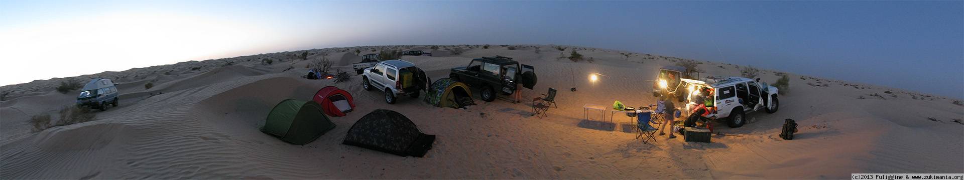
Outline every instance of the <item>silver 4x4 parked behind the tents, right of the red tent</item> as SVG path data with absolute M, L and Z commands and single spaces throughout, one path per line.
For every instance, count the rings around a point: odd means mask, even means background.
M 427 90 L 429 82 L 425 71 L 403 60 L 380 62 L 362 72 L 362 89 L 384 91 L 388 104 L 395 104 L 396 97 L 402 95 L 417 98 L 420 90 Z

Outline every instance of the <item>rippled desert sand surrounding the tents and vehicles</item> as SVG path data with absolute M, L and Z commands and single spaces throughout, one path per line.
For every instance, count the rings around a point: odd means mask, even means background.
M 421 98 L 388 105 L 377 90 L 362 90 L 360 76 L 337 83 L 307 80 L 297 52 L 132 68 L 73 77 L 120 83 L 120 107 L 96 112 L 93 121 L 32 132 L 31 116 L 70 106 L 78 90 L 54 88 L 66 79 L 0 87 L 0 179 L 841 179 L 850 173 L 964 172 L 964 107 L 952 99 L 854 82 L 790 74 L 790 93 L 775 114 L 748 114 L 729 128 L 715 122 L 712 142 L 656 137 L 634 139 L 628 116 L 584 119 L 584 104 L 655 104 L 656 72 L 677 58 L 618 50 L 556 45 L 365 46 L 311 49 L 308 59 L 327 58 L 351 71 L 370 49 L 416 49 L 435 54 L 402 59 L 433 79 L 472 58 L 506 56 L 536 66 L 531 99 L 559 90 L 558 109 L 531 116 L 530 103 L 509 97 L 467 110 L 437 108 Z M 446 48 L 465 52 L 452 55 Z M 537 49 L 538 48 L 538 52 Z M 572 49 L 593 62 L 567 59 Z M 350 49 L 345 51 L 345 49 Z M 273 64 L 261 64 L 270 58 Z M 742 65 L 742 64 L 740 64 Z M 702 76 L 739 76 L 736 64 L 701 62 Z M 200 67 L 197 69 L 192 69 Z M 290 68 L 290 69 L 289 69 Z M 286 70 L 285 69 L 289 69 Z M 597 82 L 589 74 L 605 76 Z M 763 70 L 772 84 L 777 72 Z M 354 74 L 354 73 L 352 73 Z M 151 89 L 144 85 L 152 83 Z M 356 110 L 332 117 L 336 127 L 317 141 L 293 145 L 258 131 L 271 108 L 286 98 L 309 100 L 326 86 L 348 90 Z M 576 91 L 571 91 L 576 88 Z M 890 91 L 891 93 L 885 93 Z M 158 95 L 157 92 L 163 92 Z M 881 96 L 871 96 L 871 94 Z M 863 98 L 861 98 L 863 97 Z M 388 109 L 437 135 L 424 158 L 399 157 L 340 144 L 358 118 Z M 932 118 L 928 119 L 928 117 Z M 785 118 L 799 124 L 796 140 L 778 137 Z M 730 136 L 732 135 L 732 136 Z

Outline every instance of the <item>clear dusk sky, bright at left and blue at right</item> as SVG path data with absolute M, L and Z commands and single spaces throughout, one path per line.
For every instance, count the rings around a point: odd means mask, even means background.
M 26 79 L 3 85 L 310 48 L 555 43 L 964 98 L 964 1 L 4 1 L 0 33 L 5 63 L 31 60 L 5 65 Z

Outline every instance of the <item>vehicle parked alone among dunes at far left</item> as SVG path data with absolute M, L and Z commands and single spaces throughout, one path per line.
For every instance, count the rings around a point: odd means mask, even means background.
M 77 95 L 77 106 L 107 111 L 109 106 L 118 106 L 118 89 L 110 79 L 96 78 L 84 85 Z

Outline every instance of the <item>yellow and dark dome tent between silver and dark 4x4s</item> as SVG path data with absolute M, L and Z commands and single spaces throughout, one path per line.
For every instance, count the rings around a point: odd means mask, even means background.
M 425 94 L 425 102 L 436 107 L 462 108 L 475 104 L 471 94 L 466 84 L 442 78 L 432 83 L 432 87 Z

